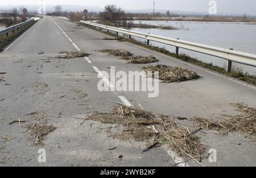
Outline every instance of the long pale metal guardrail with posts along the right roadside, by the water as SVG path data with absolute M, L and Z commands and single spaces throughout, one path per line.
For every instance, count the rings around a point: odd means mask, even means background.
M 195 52 L 204 53 L 204 54 L 210 55 L 210 56 L 220 57 L 222 59 L 228 60 L 227 69 L 226 69 L 227 72 L 231 72 L 232 61 L 235 63 L 240 63 L 240 64 L 245 64 L 245 65 L 250 65 L 250 66 L 256 67 L 256 55 L 255 54 L 234 51 L 233 49 L 213 47 L 213 46 L 205 45 L 205 44 L 192 43 L 192 42 L 187 42 L 184 40 L 167 38 L 164 36 L 145 34 L 142 32 L 125 30 L 122 28 L 110 27 L 110 26 L 105 26 L 102 24 L 97 24 L 97 23 L 92 23 L 92 22 L 86 22 L 83 20 L 81 20 L 80 23 L 84 23 L 84 24 L 87 24 L 87 25 L 89 25 L 91 27 L 95 27 L 95 28 L 98 27 L 98 28 L 100 28 L 100 30 L 102 28 L 104 28 L 108 32 L 109 32 L 109 30 L 117 32 L 117 36 L 118 36 L 118 32 L 120 32 L 122 34 L 129 35 L 129 38 L 131 38 L 131 36 L 143 38 L 143 39 L 147 40 L 147 45 L 149 45 L 150 41 L 172 45 L 172 46 L 176 47 L 176 55 L 179 54 L 179 48 L 183 48 L 183 49 L 188 49 L 188 50 L 195 51 Z

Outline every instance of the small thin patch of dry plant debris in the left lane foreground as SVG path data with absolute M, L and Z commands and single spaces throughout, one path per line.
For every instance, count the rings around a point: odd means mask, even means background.
M 40 125 L 26 125 L 25 128 L 27 128 L 27 131 L 30 131 L 30 134 L 34 138 L 34 144 L 43 144 L 44 138 L 57 129 L 56 127 L 47 125 L 46 123 Z

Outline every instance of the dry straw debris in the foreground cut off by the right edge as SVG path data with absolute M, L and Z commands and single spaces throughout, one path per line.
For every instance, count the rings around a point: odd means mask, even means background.
M 232 105 L 237 107 L 242 114 L 226 115 L 228 118 L 225 118 L 224 121 L 213 121 L 205 118 L 193 118 L 192 121 L 206 130 L 213 130 L 216 134 L 226 135 L 238 131 L 256 143 L 256 109 L 244 104 L 234 103 Z

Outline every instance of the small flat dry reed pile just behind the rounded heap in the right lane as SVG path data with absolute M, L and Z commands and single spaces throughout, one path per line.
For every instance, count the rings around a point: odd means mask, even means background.
M 154 56 L 127 56 L 123 57 L 127 61 L 127 63 L 132 64 L 149 64 L 149 63 L 156 63 L 159 60 L 156 59 Z

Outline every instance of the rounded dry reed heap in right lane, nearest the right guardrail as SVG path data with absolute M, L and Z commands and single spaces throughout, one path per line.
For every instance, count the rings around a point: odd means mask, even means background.
M 168 65 L 149 65 L 143 68 L 144 71 L 159 72 L 159 79 L 163 82 L 181 82 L 187 80 L 196 80 L 199 78 L 196 72 L 189 71 L 181 67 L 172 67 Z

